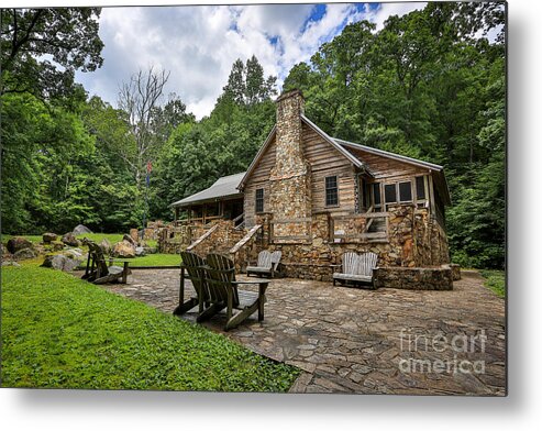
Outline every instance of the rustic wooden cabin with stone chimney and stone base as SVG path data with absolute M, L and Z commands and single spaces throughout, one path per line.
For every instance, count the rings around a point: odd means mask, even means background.
M 259 231 L 259 248 L 280 250 L 294 276 L 321 279 L 346 251 L 372 251 L 386 266 L 449 263 L 443 167 L 331 137 L 303 103 L 298 90 L 280 96 L 276 124 L 248 169 L 174 207 L 202 222 L 242 213 L 246 231 Z M 224 183 L 230 190 L 217 194 Z M 242 209 L 226 216 L 232 201 Z

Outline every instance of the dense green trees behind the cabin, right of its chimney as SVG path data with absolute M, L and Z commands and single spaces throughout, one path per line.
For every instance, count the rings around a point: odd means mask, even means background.
M 332 136 L 444 166 L 452 195 L 446 228 L 454 262 L 505 265 L 505 53 L 497 3 L 428 3 L 345 26 L 285 89 Z

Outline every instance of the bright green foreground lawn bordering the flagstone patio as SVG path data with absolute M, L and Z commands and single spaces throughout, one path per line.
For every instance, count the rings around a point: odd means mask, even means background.
M 286 391 L 299 373 L 62 272 L 2 277 L 2 387 Z

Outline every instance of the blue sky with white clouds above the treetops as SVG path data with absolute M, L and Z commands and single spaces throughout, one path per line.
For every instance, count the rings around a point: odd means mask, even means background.
M 390 15 L 425 3 L 300 3 L 103 8 L 103 66 L 76 74 L 90 96 L 117 106 L 119 88 L 140 69 L 170 73 L 165 100 L 175 92 L 199 120 L 209 115 L 235 59 L 253 54 L 265 76 L 278 77 L 307 62 L 345 25 L 368 20 L 377 29 Z

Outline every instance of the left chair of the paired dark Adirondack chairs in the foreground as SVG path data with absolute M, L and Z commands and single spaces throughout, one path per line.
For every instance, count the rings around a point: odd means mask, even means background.
M 180 252 L 180 287 L 179 287 L 179 305 L 174 310 L 174 314 L 180 316 L 190 311 L 196 306 L 199 307 L 198 312 L 203 311 L 203 306 L 208 300 L 209 292 L 206 285 L 203 267 L 206 259 L 191 252 Z M 185 280 L 189 279 L 192 283 L 196 296 L 185 301 Z

